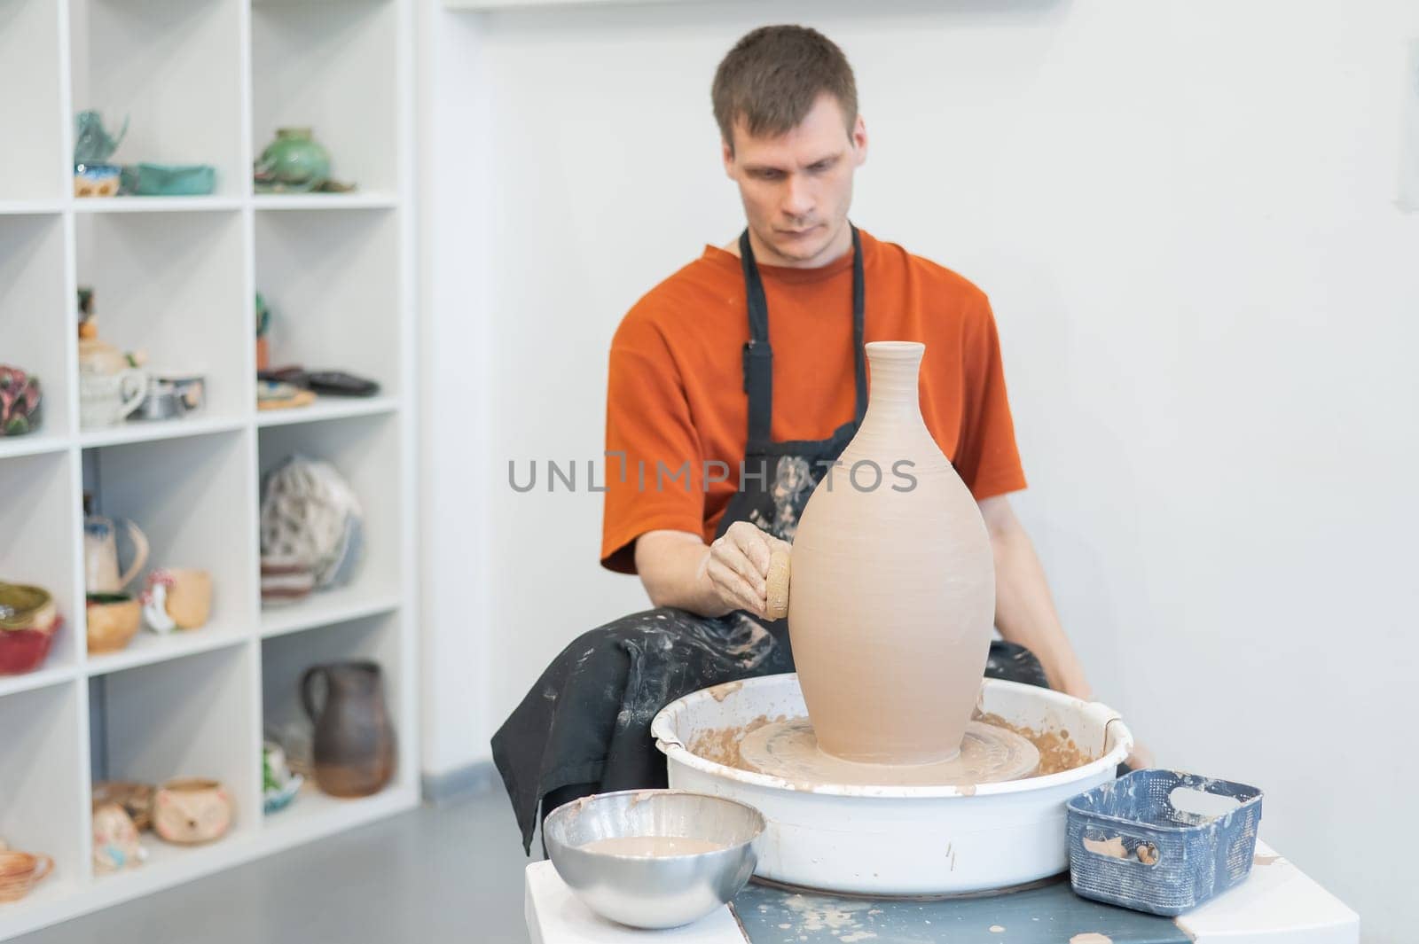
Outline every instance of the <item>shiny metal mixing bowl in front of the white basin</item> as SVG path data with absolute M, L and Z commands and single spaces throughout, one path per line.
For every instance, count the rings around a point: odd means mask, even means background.
M 627 790 L 558 807 L 542 838 L 558 875 L 593 911 L 631 927 L 666 928 L 697 921 L 739 893 L 753 875 L 763 825 L 758 809 L 734 799 Z M 654 858 L 580 848 L 629 836 L 705 839 L 725 848 Z

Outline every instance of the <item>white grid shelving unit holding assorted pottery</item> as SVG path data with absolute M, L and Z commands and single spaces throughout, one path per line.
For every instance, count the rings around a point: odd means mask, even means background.
M 316 839 L 417 802 L 412 0 L 0 0 L 0 363 L 44 386 L 40 432 L 0 438 L 0 580 L 54 592 L 47 662 L 0 676 L 0 838 L 55 872 L 0 904 L 0 940 Z M 78 200 L 74 115 L 131 118 L 115 163 L 210 163 L 210 197 Z M 254 194 L 278 126 L 309 126 L 348 194 Z M 101 336 L 155 367 L 203 371 L 207 405 L 79 429 L 75 291 Z M 253 295 L 275 363 L 380 381 L 372 398 L 255 410 Z M 291 452 L 359 493 L 352 583 L 263 609 L 261 475 Z M 209 624 L 84 645 L 82 493 L 139 523 L 149 567 L 213 574 Z M 261 812 L 261 738 L 299 712 L 307 666 L 376 659 L 399 734 L 394 781 Z M 233 831 L 200 848 L 145 833 L 149 860 L 91 867 L 95 780 L 214 777 Z M 175 931 L 176 933 L 176 931 Z M 192 934 L 199 934 L 192 928 Z

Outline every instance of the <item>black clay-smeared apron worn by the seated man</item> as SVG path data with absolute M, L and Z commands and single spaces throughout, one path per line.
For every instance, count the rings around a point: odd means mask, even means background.
M 751 522 L 793 540 L 809 496 L 857 434 L 867 412 L 863 247 L 853 227 L 854 415 L 827 439 L 773 442 L 773 349 L 769 309 L 748 231 L 739 237 L 748 296 L 749 343 L 744 346 L 744 388 L 749 437 L 745 475 L 725 507 L 718 534 Z M 761 675 L 793 672 L 788 619 L 745 611 L 700 617 L 660 607 L 622 617 L 579 636 L 546 668 L 498 733 L 492 760 L 502 774 L 524 849 L 531 850 L 538 807 L 572 795 L 664 787 L 666 758 L 650 723 L 666 704 L 691 692 Z M 996 642 L 986 676 L 1044 685 L 1026 649 Z

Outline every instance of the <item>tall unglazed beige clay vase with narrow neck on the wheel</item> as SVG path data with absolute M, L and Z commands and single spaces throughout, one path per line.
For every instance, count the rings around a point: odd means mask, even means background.
M 990 648 L 990 541 L 921 417 L 924 353 L 867 344 L 867 414 L 793 539 L 789 636 L 803 700 L 819 747 L 850 761 L 952 758 Z

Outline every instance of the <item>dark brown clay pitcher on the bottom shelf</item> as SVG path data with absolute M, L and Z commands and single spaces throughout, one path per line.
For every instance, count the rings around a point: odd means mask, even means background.
M 325 697 L 316 704 L 316 683 Z M 315 782 L 332 797 L 368 797 L 394 772 L 394 727 L 385 707 L 385 685 L 373 662 L 341 662 L 307 669 L 301 700 L 315 724 L 311 753 Z

